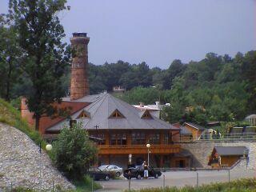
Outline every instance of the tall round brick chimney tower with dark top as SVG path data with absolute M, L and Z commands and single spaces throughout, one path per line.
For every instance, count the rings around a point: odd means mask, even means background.
M 70 100 L 82 98 L 89 93 L 89 83 L 87 79 L 88 66 L 88 43 L 90 38 L 86 33 L 74 33 L 70 38 L 73 52 L 71 66 Z

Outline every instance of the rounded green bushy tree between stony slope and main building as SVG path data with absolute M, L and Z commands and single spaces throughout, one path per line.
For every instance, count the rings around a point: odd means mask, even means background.
M 54 162 L 68 178 L 82 179 L 90 166 L 97 161 L 97 147 L 90 142 L 82 123 L 64 127 L 53 143 Z

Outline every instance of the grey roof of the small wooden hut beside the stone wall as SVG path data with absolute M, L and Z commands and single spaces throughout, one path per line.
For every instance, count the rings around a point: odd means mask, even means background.
M 247 150 L 246 146 L 215 146 L 220 155 L 243 155 Z

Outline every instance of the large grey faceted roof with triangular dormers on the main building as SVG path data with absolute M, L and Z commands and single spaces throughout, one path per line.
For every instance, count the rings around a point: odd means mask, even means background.
M 78 122 L 82 122 L 86 130 L 95 130 L 95 126 L 97 126 L 98 130 L 176 130 L 176 127 L 154 117 L 154 115 L 152 115 L 152 118 L 142 118 L 142 114 L 145 111 L 138 110 L 136 107 L 118 98 L 114 98 L 111 94 L 90 95 L 78 99 L 75 102 L 77 101 L 92 101 L 89 106 L 86 106 L 71 116 L 72 119 L 77 119 Z M 87 114 L 90 114 L 90 118 L 78 118 L 83 110 L 85 110 Z M 110 118 L 114 110 L 118 110 L 124 118 Z M 66 119 L 50 127 L 47 131 L 61 130 L 62 127 L 65 124 L 68 125 L 68 123 Z

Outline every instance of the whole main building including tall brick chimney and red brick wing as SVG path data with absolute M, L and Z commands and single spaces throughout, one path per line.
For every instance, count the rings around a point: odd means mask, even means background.
M 124 167 L 129 154 L 134 164 L 141 164 L 147 160 L 149 152 L 150 165 L 177 165 L 175 160 L 181 161 L 184 157 L 174 155 L 181 151 L 181 146 L 173 142 L 172 135 L 178 130 L 176 127 L 151 115 L 149 110 L 138 110 L 110 94 L 89 94 L 89 41 L 86 33 L 80 32 L 70 38 L 71 46 L 76 51 L 71 66 L 70 97 L 62 98 L 62 103 L 56 106 L 66 107 L 70 110 L 70 118 L 82 122 L 83 129 L 91 137 L 101 139 L 98 142 L 99 164 L 115 163 Z M 33 124 L 32 116 L 25 100 L 22 100 L 22 117 Z M 58 134 L 64 125 L 70 124 L 70 118 L 41 118 L 39 132 L 45 137 Z M 146 147 L 148 143 L 149 149 Z

